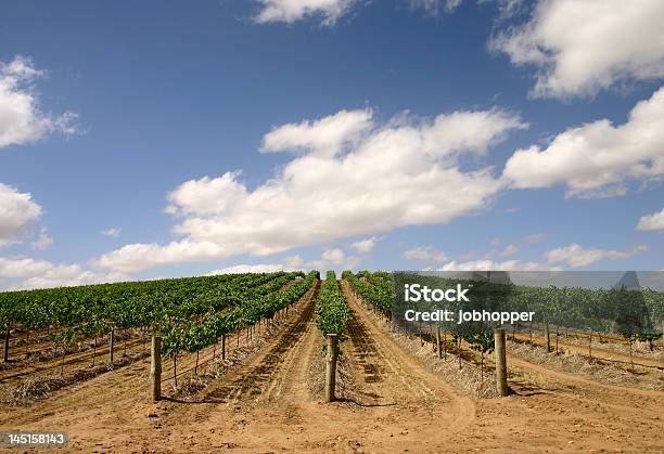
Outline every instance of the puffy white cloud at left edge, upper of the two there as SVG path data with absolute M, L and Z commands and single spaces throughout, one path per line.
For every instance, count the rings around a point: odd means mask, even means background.
M 0 62 L 0 148 L 35 142 L 52 132 L 76 132 L 75 114 L 52 116 L 40 111 L 33 82 L 42 76 L 28 59 Z

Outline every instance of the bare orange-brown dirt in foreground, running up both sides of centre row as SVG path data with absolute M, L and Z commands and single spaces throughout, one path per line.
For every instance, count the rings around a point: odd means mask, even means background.
M 463 394 L 406 351 L 347 295 L 343 399 L 324 404 L 310 372 L 321 336 L 309 291 L 259 349 L 183 400 L 148 399 L 135 363 L 27 407 L 0 430 L 66 429 L 85 452 L 549 452 L 664 450 L 664 392 L 606 386 L 509 358 L 514 394 Z

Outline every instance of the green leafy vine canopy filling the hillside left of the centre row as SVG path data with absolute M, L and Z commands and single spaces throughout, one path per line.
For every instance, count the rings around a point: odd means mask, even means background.
M 222 333 L 271 317 L 299 299 L 316 273 L 226 274 L 0 293 L 0 326 L 61 328 L 59 342 L 113 328 L 154 327 L 164 352 L 196 351 Z

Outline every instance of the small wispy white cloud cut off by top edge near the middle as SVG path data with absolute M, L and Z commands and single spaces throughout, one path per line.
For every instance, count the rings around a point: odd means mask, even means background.
M 257 0 L 261 9 L 254 17 L 259 24 L 294 22 L 319 16 L 322 24 L 334 25 L 350 10 L 356 0 Z

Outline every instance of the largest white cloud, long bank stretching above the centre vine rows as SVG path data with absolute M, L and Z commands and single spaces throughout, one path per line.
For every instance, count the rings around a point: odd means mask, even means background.
M 502 184 L 476 159 L 474 169 L 467 164 L 461 170 L 459 155 L 482 155 L 510 130 L 524 127 L 499 109 L 456 112 L 384 126 L 372 120 L 353 147 L 328 154 L 320 154 L 317 143 L 301 142 L 303 154 L 254 190 L 239 172 L 181 184 L 168 200 L 181 221 L 174 231 L 183 238 L 163 246 L 127 245 L 98 263 L 131 272 L 450 222 L 484 208 Z

